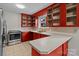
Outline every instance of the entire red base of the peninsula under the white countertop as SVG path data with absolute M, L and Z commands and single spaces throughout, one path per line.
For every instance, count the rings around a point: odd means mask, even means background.
M 68 44 L 67 42 L 56 48 L 54 51 L 49 54 L 40 54 L 32 47 L 32 56 L 67 56 L 68 54 Z

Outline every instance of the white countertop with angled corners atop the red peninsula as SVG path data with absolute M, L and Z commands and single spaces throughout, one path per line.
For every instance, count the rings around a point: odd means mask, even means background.
M 35 32 L 35 31 L 33 31 Z M 58 32 L 37 32 L 40 34 L 50 35 L 48 37 L 39 38 L 37 40 L 29 41 L 33 48 L 40 54 L 49 54 L 66 41 L 72 38 L 71 34 L 58 33 Z

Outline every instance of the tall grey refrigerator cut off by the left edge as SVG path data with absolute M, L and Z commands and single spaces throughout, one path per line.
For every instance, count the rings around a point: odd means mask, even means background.
M 3 17 L 2 17 L 2 9 L 0 9 L 0 56 L 3 55 L 3 44 L 2 44 L 2 35 L 3 35 Z

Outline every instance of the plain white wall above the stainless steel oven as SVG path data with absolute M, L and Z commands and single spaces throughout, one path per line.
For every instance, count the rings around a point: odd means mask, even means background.
M 7 23 L 7 30 L 18 30 L 21 28 L 21 18 L 19 13 L 4 11 L 4 19 Z

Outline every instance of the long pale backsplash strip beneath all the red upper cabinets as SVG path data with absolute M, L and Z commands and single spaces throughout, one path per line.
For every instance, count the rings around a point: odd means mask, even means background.
M 33 28 L 33 27 L 26 27 L 21 28 L 23 31 L 39 31 L 39 32 L 65 32 L 65 33 L 75 33 L 79 27 L 41 27 L 41 28 Z

